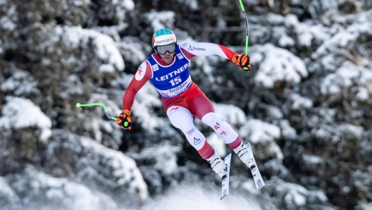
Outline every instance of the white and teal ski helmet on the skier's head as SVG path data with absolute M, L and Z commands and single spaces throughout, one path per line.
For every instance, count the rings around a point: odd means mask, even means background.
M 168 28 L 161 28 L 152 35 L 152 47 L 154 47 L 154 50 L 158 54 L 165 54 L 165 52 L 160 52 L 159 49 L 165 49 L 163 48 L 165 46 L 174 46 L 175 48 L 176 45 L 177 39 L 175 38 L 175 34 Z M 173 53 L 174 51 L 169 52 Z

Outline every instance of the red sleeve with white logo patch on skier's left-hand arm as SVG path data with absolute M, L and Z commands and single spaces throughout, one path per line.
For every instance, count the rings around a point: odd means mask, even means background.
M 123 97 L 123 109 L 131 109 L 135 102 L 135 95 L 152 77 L 152 70 L 147 61 L 144 61 L 138 68 L 137 73 L 130 81 L 128 88 L 125 90 Z

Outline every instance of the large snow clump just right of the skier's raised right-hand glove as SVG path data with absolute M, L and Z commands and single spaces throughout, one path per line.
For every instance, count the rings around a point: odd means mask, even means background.
M 251 61 L 253 65 L 259 63 L 259 69 L 254 78 L 256 85 L 273 88 L 277 81 L 297 84 L 302 78 L 307 77 L 308 72 L 304 61 L 290 51 L 275 47 L 273 44 L 255 45 L 254 47 Z

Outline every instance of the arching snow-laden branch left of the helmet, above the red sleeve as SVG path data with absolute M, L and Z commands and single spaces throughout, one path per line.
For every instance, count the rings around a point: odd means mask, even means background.
M 61 27 L 56 27 L 56 33 L 61 30 Z M 120 51 L 116 47 L 113 39 L 108 35 L 101 34 L 96 30 L 83 29 L 82 27 L 63 27 L 63 40 L 68 46 L 73 48 L 85 47 L 89 42 L 92 42 L 95 47 L 95 54 L 101 58 L 102 61 L 107 61 L 103 68 L 107 70 L 107 65 L 113 66 L 118 70 L 124 70 L 124 60 Z

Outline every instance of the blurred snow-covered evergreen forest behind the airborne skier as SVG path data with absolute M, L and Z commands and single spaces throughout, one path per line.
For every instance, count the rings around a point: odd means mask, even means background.
M 148 83 L 132 130 L 111 116 L 168 27 L 244 53 L 238 0 L 0 0 L 0 209 L 372 209 L 372 1 L 242 0 L 250 73 L 218 56 L 190 72 L 250 142 L 230 195 Z M 222 155 L 233 152 L 206 125 Z

